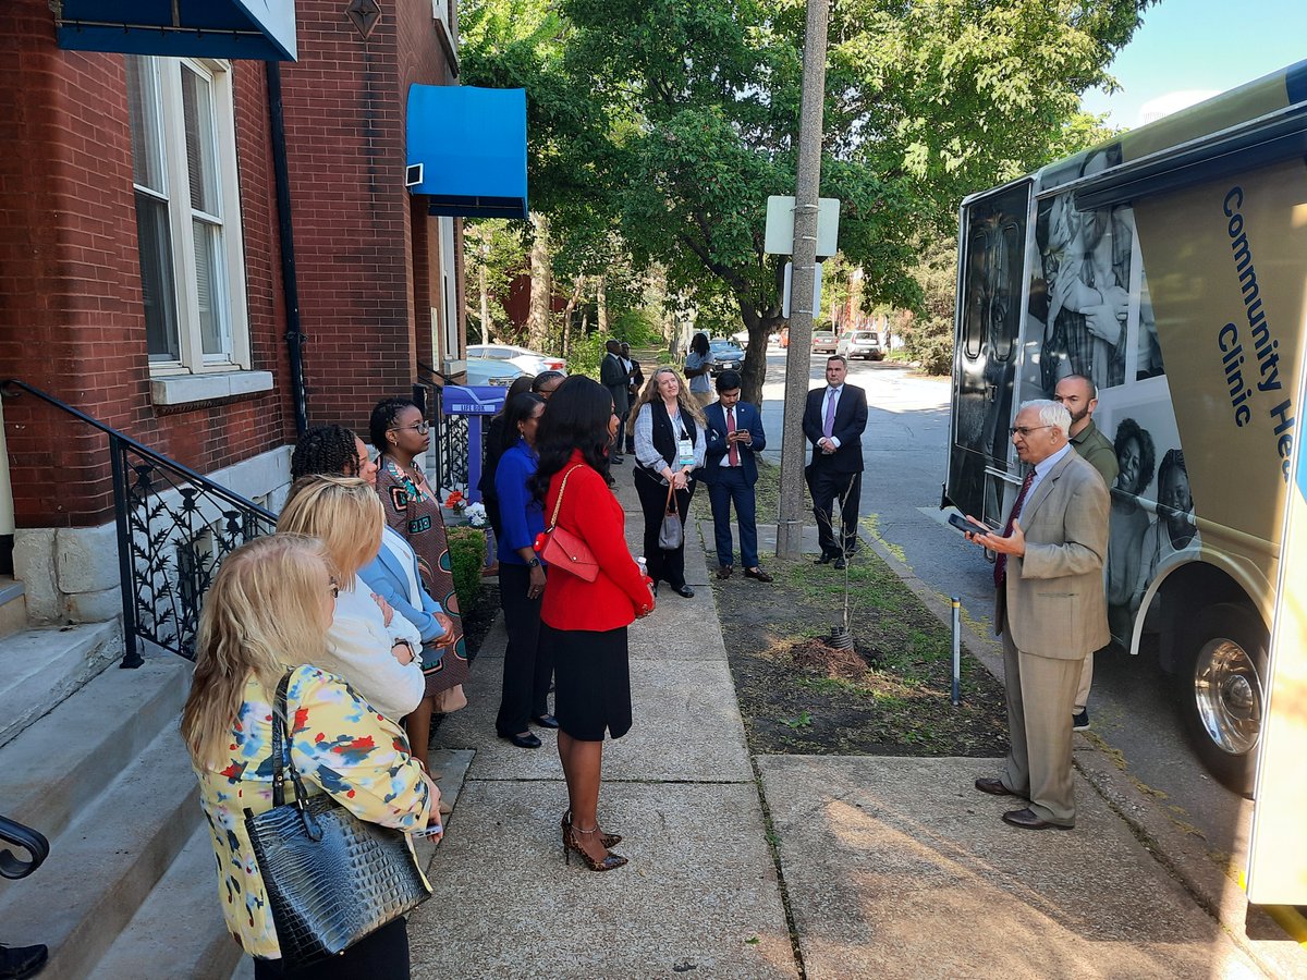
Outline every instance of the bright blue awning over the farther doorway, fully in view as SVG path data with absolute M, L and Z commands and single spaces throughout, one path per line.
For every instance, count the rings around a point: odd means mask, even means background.
M 525 90 L 414 85 L 408 163 L 409 189 L 431 214 L 525 218 Z

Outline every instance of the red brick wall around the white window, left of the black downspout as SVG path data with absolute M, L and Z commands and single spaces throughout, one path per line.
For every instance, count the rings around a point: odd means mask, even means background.
M 44 0 L 0 26 L 0 374 L 209 470 L 286 439 L 263 68 L 237 64 L 254 367 L 277 391 L 163 414 L 149 397 L 122 55 L 60 51 Z M 111 515 L 106 439 L 30 397 L 4 405 L 18 527 Z

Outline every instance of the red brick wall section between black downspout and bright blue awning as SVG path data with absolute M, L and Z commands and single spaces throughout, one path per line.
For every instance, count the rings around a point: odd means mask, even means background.
M 430 362 L 431 248 L 404 187 L 408 88 L 446 81 L 430 0 L 397 0 L 363 39 L 335 0 L 297 3 L 282 77 L 310 423 L 366 431 Z

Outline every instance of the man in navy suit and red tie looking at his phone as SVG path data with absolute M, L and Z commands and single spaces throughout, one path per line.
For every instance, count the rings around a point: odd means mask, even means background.
M 703 409 L 708 438 L 703 482 L 712 504 L 712 529 L 718 542 L 718 578 L 735 571 L 731 541 L 731 503 L 740 524 L 740 564 L 746 579 L 771 581 L 758 567 L 758 524 L 753 485 L 758 482 L 755 452 L 767 446 L 762 416 L 748 401 L 740 401 L 740 372 L 718 375 L 718 400 Z

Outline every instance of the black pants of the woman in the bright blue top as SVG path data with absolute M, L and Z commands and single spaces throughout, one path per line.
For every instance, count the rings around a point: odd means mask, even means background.
M 566 572 L 558 572 L 566 575 Z M 499 562 L 499 606 L 508 631 L 503 651 L 503 693 L 495 732 L 512 736 L 528 732 L 531 719 L 549 713 L 549 681 L 554 661 L 540 645 L 541 598 L 529 598 L 531 568 Z

